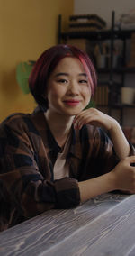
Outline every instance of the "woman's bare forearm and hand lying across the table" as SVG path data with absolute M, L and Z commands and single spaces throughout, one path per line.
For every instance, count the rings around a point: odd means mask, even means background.
M 113 190 L 135 194 L 135 156 L 121 160 L 112 171 L 97 178 L 78 182 L 81 202 Z

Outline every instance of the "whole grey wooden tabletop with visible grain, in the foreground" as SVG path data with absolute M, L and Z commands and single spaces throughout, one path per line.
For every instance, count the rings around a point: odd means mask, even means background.
M 0 233 L 0 256 L 135 256 L 135 196 L 105 194 Z

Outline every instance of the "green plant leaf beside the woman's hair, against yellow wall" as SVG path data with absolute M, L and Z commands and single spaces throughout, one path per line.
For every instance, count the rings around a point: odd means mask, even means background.
M 28 79 L 31 74 L 31 69 L 35 61 L 29 60 L 27 62 L 21 62 L 16 68 L 16 80 L 21 87 L 24 94 L 29 94 L 30 89 L 28 85 Z

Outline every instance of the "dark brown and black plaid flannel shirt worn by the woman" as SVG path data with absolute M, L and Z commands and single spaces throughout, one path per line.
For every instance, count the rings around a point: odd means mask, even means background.
M 92 125 L 72 127 L 69 177 L 54 180 L 60 147 L 44 113 L 13 114 L 0 125 L 0 229 L 52 208 L 80 203 L 78 181 L 109 172 L 119 162 L 106 133 Z M 130 155 L 135 154 L 130 145 Z

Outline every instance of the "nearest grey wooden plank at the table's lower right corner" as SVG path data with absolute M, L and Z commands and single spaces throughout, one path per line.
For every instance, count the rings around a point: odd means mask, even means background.
M 133 256 L 134 246 L 135 196 L 131 196 L 48 252 L 49 256 Z

